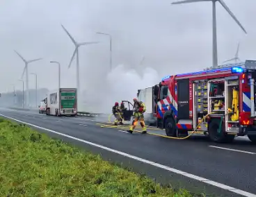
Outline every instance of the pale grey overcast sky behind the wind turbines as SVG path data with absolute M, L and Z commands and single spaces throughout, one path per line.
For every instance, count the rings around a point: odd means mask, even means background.
M 109 40 L 95 32 L 113 36 L 113 65 L 128 68 L 152 67 L 163 77 L 168 74 L 196 71 L 212 64 L 211 2 L 170 5 L 167 0 L 8 0 L 0 6 L 0 91 L 11 89 L 24 69 L 26 60 L 44 58 L 29 65 L 38 74 L 38 86 L 58 87 L 57 66 L 61 62 L 62 87 L 75 87 L 75 61 L 68 63 L 74 44 L 61 24 L 78 42 L 100 41 L 81 46 L 81 87 L 99 82 L 109 69 Z M 256 59 L 255 0 L 225 0 L 243 24 L 248 35 L 217 3 L 218 62 L 233 58 L 241 42 L 241 60 Z M 139 70 L 139 69 L 138 69 Z M 29 86 L 35 87 L 33 76 Z M 132 80 L 132 79 L 131 79 Z M 159 77 L 160 80 L 160 77 Z

